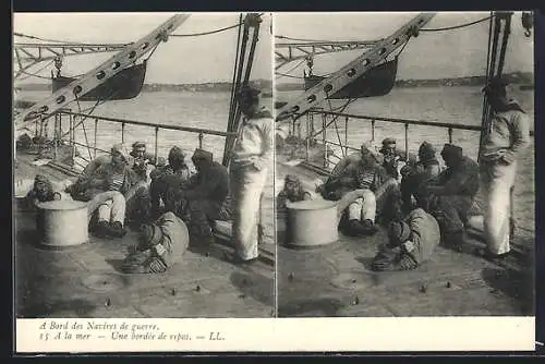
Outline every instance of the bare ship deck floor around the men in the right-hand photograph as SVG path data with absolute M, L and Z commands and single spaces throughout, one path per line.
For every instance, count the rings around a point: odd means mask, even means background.
M 316 174 L 277 162 L 277 175 Z M 279 239 L 281 239 L 279 236 Z M 417 269 L 375 272 L 371 262 L 387 242 L 384 228 L 366 238 L 349 238 L 313 248 L 279 243 L 278 314 L 280 317 L 327 316 L 519 316 L 533 315 L 533 240 L 518 241 L 513 258 L 497 265 L 438 246 Z M 476 240 L 471 246 L 482 246 Z

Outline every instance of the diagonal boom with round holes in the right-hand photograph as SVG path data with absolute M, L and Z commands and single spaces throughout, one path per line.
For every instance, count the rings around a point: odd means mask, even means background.
M 300 118 L 308 111 L 308 109 L 315 107 L 328 96 L 334 95 L 348 84 L 358 80 L 362 74 L 385 60 L 386 57 L 397 48 L 403 46 L 411 36 L 416 36 L 419 29 L 426 25 L 434 16 L 435 13 L 421 13 L 389 37 L 377 41 L 370 50 L 364 51 L 360 57 L 342 69 L 302 93 L 293 101 L 289 101 L 279 110 L 277 121 L 290 117 L 293 119 Z

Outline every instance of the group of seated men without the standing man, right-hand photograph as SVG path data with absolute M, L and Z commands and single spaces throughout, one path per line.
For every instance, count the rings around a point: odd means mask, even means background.
M 464 241 L 468 211 L 479 190 L 479 165 L 462 148 L 445 144 L 440 168 L 434 146 L 423 142 L 417 158 L 397 149 L 393 138 L 377 151 L 367 144 L 341 159 L 324 184 L 304 187 L 292 174 L 277 197 L 281 213 L 288 202 L 337 201 L 339 230 L 350 236 L 388 231 L 373 260 L 375 270 L 414 269 L 443 240 L 452 247 Z M 405 165 L 400 168 L 399 161 Z

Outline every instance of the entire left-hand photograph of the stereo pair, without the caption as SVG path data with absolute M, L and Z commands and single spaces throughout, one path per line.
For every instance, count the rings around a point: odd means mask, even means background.
M 274 317 L 271 14 L 14 13 L 15 317 Z

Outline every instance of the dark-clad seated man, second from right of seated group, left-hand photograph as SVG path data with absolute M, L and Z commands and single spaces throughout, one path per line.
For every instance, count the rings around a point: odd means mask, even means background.
M 154 169 L 149 177 L 152 179 L 149 185 L 152 215 L 160 215 L 161 202 L 165 205 L 165 210 L 182 214 L 183 209 L 179 204 L 180 199 L 169 198 L 168 194 L 171 190 L 180 189 L 191 178 L 191 171 L 185 163 L 183 150 L 178 146 L 173 146 L 169 151 L 168 165 Z

